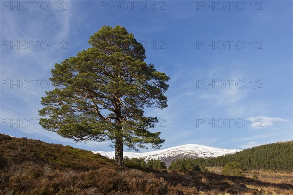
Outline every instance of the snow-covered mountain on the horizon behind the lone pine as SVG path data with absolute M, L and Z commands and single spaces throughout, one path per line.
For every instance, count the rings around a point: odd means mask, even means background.
M 143 152 L 143 153 L 135 153 L 135 152 L 123 152 L 123 156 L 128 156 L 129 158 L 145 158 L 146 161 L 148 159 L 160 159 L 166 162 L 167 166 L 171 164 L 173 160 L 176 158 L 209 158 L 209 157 L 217 157 L 223 156 L 227 154 L 233 154 L 235 152 L 239 152 L 241 150 L 234 149 L 221 149 L 221 148 L 213 148 L 209 146 L 197 145 L 197 144 L 187 144 L 182 146 L 176 146 L 164 150 L 157 150 L 151 152 Z M 115 156 L 115 152 L 104 152 L 104 151 L 93 151 L 93 153 L 101 154 L 102 156 L 107 156 L 109 158 L 113 158 Z

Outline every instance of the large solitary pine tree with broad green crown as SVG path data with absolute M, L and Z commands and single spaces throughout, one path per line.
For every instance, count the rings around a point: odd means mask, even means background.
M 144 107 L 167 107 L 165 73 L 144 62 L 145 49 L 121 26 L 103 26 L 89 40 L 91 48 L 55 64 L 54 90 L 42 97 L 40 125 L 75 141 L 115 144 L 115 163 L 124 166 L 123 146 L 159 149 L 160 132 L 148 131 L 158 122 Z

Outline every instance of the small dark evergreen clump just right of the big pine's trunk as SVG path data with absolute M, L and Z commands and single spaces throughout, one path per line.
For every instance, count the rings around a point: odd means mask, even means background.
M 167 165 L 165 162 L 159 159 L 149 159 L 147 162 L 144 158 L 128 158 L 127 156 L 124 158 L 125 163 L 133 163 L 141 167 L 147 167 L 152 169 L 167 169 Z

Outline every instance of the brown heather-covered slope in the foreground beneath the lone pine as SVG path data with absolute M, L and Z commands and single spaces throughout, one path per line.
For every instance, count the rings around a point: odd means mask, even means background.
M 272 184 L 202 172 L 148 170 L 70 146 L 0 134 L 0 195 L 293 194 Z

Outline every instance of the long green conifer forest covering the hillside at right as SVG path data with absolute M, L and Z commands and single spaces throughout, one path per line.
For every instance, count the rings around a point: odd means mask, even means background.
M 230 162 L 239 162 L 248 170 L 285 171 L 292 173 L 293 142 L 266 144 L 234 154 L 207 159 L 177 159 L 171 163 L 169 168 L 190 170 L 190 167 L 195 166 L 224 167 Z

